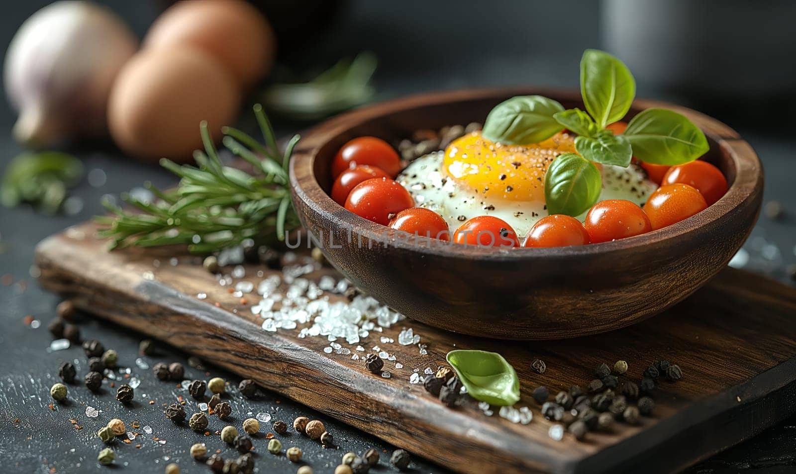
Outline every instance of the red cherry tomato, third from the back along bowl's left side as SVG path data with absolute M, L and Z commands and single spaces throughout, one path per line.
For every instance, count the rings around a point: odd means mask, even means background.
M 388 225 L 392 214 L 412 208 L 415 200 L 404 186 L 388 178 L 371 178 L 354 186 L 345 208 L 367 220 Z

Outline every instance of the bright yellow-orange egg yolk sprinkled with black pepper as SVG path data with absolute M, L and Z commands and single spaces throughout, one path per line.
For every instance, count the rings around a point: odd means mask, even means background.
M 531 145 L 503 145 L 473 132 L 447 147 L 443 172 L 487 199 L 544 202 L 544 173 L 569 152 L 575 140 L 564 132 Z

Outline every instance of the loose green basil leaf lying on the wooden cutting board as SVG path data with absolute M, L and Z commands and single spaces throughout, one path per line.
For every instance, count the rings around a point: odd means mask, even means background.
M 476 400 L 500 406 L 520 401 L 517 372 L 497 352 L 458 350 L 448 352 L 446 359 Z

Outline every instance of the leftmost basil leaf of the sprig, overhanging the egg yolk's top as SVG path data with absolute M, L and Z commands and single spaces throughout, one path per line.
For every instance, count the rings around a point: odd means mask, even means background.
M 562 126 L 552 118 L 564 106 L 541 95 L 517 95 L 497 104 L 486 116 L 482 135 L 490 142 L 528 145 L 552 137 Z

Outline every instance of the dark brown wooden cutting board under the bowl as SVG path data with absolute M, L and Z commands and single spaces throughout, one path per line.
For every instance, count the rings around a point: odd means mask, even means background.
M 391 375 L 385 379 L 351 358 L 357 344 L 342 344 L 351 355 L 328 354 L 326 338 L 298 337 L 302 326 L 263 331 L 263 320 L 250 311 L 259 296 L 246 294 L 242 301 L 228 293 L 195 258 L 173 266 L 155 251 L 109 253 L 93 238 L 95 231 L 87 223 L 38 246 L 45 288 L 458 472 L 677 472 L 796 412 L 796 289 L 747 272 L 725 270 L 666 313 L 572 340 L 482 340 L 400 321 L 360 343 L 367 350 L 360 355 L 380 346 L 396 356 L 384 364 Z M 274 273 L 248 266 L 243 279 L 256 286 Z M 339 278 L 329 268 L 305 278 L 317 281 L 323 274 Z M 397 344 L 404 327 L 428 344 L 427 355 L 416 345 Z M 396 342 L 383 344 L 380 336 Z M 436 370 L 453 348 L 504 355 L 521 380 L 517 406 L 529 406 L 533 422 L 509 422 L 497 407 L 486 416 L 474 402 L 449 409 L 409 383 L 414 369 L 421 375 L 427 367 Z M 530 368 L 536 358 L 547 364 L 544 375 Z M 618 359 L 630 364 L 620 379 L 638 381 L 658 359 L 678 363 L 684 377 L 659 384 L 654 416 L 641 425 L 618 424 L 613 433 L 589 433 L 584 442 L 569 434 L 552 440 L 552 423 L 540 415 L 531 390 L 545 385 L 554 395 L 573 383 L 585 387 L 599 363 Z

